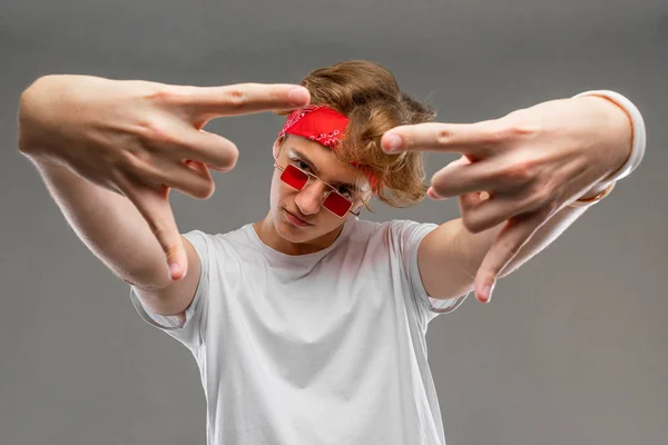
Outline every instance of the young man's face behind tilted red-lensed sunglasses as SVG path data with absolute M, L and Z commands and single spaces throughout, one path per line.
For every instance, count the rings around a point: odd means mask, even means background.
M 317 243 L 327 235 L 337 235 L 341 226 L 352 216 L 343 218 L 323 207 L 325 194 L 334 186 L 353 202 L 351 210 L 363 207 L 363 200 L 371 196 L 371 187 L 365 176 L 355 167 L 338 161 L 332 150 L 317 142 L 298 136 L 287 136 L 274 144 L 276 164 L 281 167 L 293 165 L 316 175 L 322 180 L 311 178 L 302 190 L 295 190 L 281 180 L 282 170 L 274 169 L 272 179 L 272 219 L 276 233 L 291 243 Z M 324 182 L 323 182 L 324 181 Z

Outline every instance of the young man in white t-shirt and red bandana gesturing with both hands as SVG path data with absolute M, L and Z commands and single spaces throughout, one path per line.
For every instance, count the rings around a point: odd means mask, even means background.
M 21 152 L 141 317 L 186 345 L 209 444 L 443 444 L 425 332 L 514 270 L 639 164 L 638 110 L 596 91 L 472 125 L 434 123 L 375 63 L 295 86 L 47 77 L 22 96 Z M 307 105 L 307 102 L 311 105 Z M 288 113 L 266 217 L 178 235 L 170 188 L 206 198 L 237 151 L 218 116 Z M 423 185 L 421 150 L 462 154 Z M 440 226 L 357 218 L 458 196 Z M 146 224 L 148 222 L 148 224 Z M 165 265 L 165 256 L 167 264 Z

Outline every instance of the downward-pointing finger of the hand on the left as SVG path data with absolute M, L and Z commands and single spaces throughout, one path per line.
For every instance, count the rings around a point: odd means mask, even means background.
M 160 244 L 173 280 L 181 279 L 188 269 L 187 256 L 169 205 L 169 188 L 146 186 L 130 178 L 120 185 L 125 196 L 137 207 Z

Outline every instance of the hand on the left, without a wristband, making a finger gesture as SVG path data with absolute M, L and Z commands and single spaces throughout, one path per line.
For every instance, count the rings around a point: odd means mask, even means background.
M 206 199 L 214 192 L 209 168 L 229 171 L 238 157 L 233 142 L 202 128 L 217 117 L 291 110 L 308 100 L 295 85 L 200 88 L 47 76 L 21 97 L 19 148 L 126 196 L 163 247 L 171 279 L 180 279 L 187 260 L 169 190 Z

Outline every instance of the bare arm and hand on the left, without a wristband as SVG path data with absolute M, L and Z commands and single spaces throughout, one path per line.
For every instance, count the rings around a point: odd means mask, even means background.
M 229 170 L 237 157 L 230 141 L 202 128 L 215 117 L 307 101 L 307 90 L 287 85 L 197 88 L 47 76 L 21 96 L 19 149 L 81 241 L 141 288 L 149 308 L 175 315 L 195 295 L 199 263 L 178 233 L 169 190 L 207 198 L 209 168 Z

